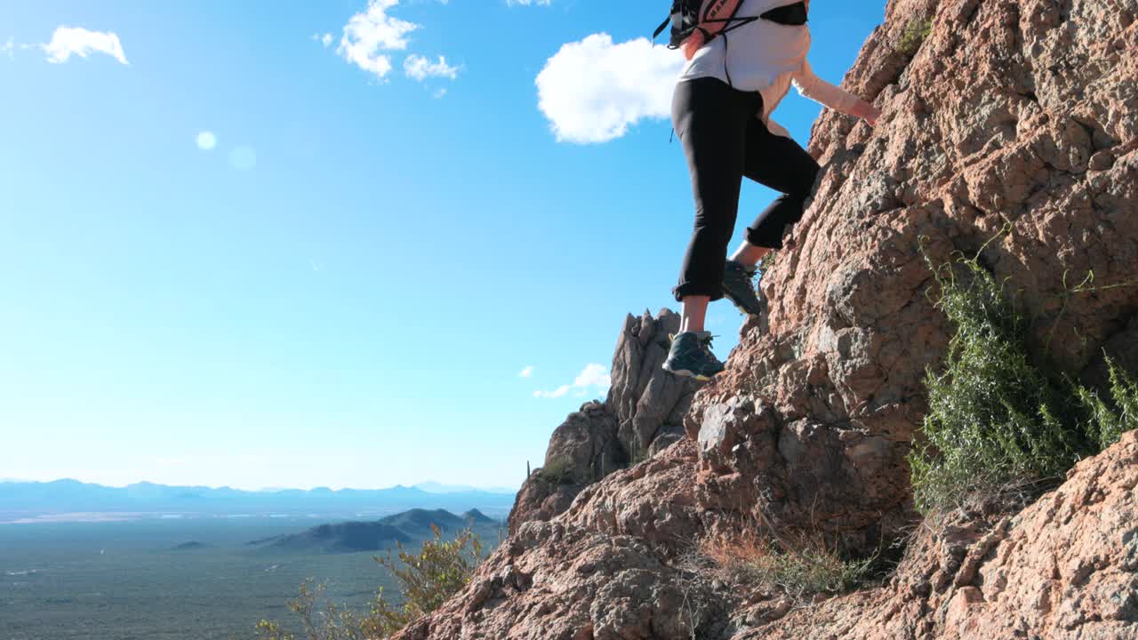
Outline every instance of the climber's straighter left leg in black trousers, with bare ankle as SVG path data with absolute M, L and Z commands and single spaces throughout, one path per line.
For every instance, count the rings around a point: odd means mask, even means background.
M 707 304 L 723 297 L 724 266 L 739 211 L 747 128 L 758 110 L 758 93 L 736 91 L 707 77 L 681 82 L 673 100 L 673 124 L 684 147 L 695 199 L 695 224 L 679 284 L 683 327 L 703 330 Z M 691 300 L 688 300 L 691 298 Z

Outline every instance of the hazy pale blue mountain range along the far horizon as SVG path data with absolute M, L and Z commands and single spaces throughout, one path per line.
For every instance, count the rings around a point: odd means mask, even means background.
M 443 487 L 436 483 L 424 484 Z M 0 483 L 0 523 L 71 512 L 358 517 L 407 509 L 480 509 L 500 515 L 513 504 L 513 493 L 453 489 L 462 490 L 444 493 L 398 485 L 379 490 L 241 491 L 228 486 L 167 486 L 146 482 L 124 487 L 74 479 L 3 482 Z

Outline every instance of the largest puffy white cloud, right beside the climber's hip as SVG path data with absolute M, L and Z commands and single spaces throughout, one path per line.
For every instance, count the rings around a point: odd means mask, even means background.
M 559 141 L 607 142 L 644 118 L 667 118 L 684 56 L 596 33 L 561 47 L 537 75 L 538 107 Z

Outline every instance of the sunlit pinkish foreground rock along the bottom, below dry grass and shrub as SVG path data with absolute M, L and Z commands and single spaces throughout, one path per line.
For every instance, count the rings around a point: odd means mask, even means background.
M 718 517 L 677 486 L 696 459 L 678 443 L 553 522 L 523 524 L 397 640 L 1138 638 L 1138 433 L 1014 518 L 922 527 L 888 585 L 794 610 L 748 605 L 669 555 Z M 653 490 L 659 500 L 633 500 Z

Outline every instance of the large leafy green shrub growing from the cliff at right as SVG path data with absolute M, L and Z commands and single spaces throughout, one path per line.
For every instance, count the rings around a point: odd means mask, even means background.
M 1028 323 L 1003 285 L 974 257 L 955 263 L 958 269 L 930 262 L 940 286 L 935 306 L 955 334 L 943 370 L 926 372 L 925 441 L 909 454 L 914 499 L 924 512 L 1059 478 L 1138 428 L 1138 386 L 1124 372 L 1111 364 L 1118 409 L 1046 375 L 1030 359 Z

